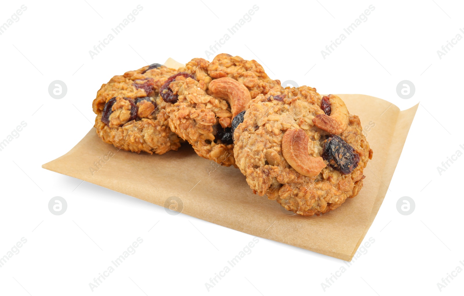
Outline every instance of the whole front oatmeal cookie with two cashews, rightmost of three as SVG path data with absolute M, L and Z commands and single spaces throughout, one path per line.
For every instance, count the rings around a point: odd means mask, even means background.
M 356 115 L 315 88 L 274 88 L 246 107 L 234 136 L 235 161 L 254 193 L 303 216 L 354 197 L 372 158 Z

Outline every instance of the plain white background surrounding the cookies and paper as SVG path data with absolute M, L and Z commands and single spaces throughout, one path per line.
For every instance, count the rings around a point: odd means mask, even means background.
M 0 257 L 21 237 L 27 243 L 0 268 L 0 294 L 462 293 L 464 272 L 455 273 L 441 292 L 437 287 L 457 266 L 464 269 L 459 263 L 464 263 L 464 157 L 441 175 L 437 170 L 447 157 L 464 151 L 459 146 L 464 146 L 464 40 L 441 59 L 437 54 L 456 34 L 464 37 L 459 31 L 464 6 L 458 2 L 3 1 L 0 23 L 23 4 L 27 10 L 0 35 L 0 139 L 22 121 L 27 126 L 0 151 Z M 93 46 L 139 4 L 143 10 L 135 21 L 91 59 Z M 168 57 L 180 62 L 206 58 L 209 46 L 255 4 L 259 9 L 251 20 L 216 53 L 256 59 L 271 78 L 314 86 L 320 93 L 368 94 L 400 109 L 420 102 L 387 196 L 365 238 L 375 242 L 325 291 L 321 283 L 346 267 L 344 261 L 260 238 L 208 292 L 205 283 L 252 236 L 184 214 L 171 216 L 155 204 L 41 168 L 90 130 L 91 102 L 113 75 Z M 323 59 L 325 46 L 369 5 L 375 10 L 367 21 Z M 57 79 L 68 88 L 63 99 L 48 93 Z M 396 92 L 405 79 L 416 88 L 411 99 Z M 173 186 L 181 174 L 180 169 Z M 68 204 L 61 216 L 48 209 L 55 196 Z M 403 196 L 415 201 L 411 215 L 396 209 Z M 137 237 L 143 243 L 135 254 L 92 292 L 89 283 Z

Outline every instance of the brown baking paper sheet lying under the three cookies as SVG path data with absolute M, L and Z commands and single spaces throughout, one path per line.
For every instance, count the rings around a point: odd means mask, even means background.
M 320 217 L 290 216 L 277 202 L 254 195 L 240 170 L 200 158 L 188 143 L 163 155 L 136 154 L 104 143 L 92 128 L 71 151 L 42 167 L 161 206 L 179 197 L 184 214 L 350 261 L 382 204 L 419 104 L 400 111 L 367 95 L 338 96 L 361 118 L 374 158 L 359 195 Z M 92 174 L 94 162 L 110 151 L 114 156 Z

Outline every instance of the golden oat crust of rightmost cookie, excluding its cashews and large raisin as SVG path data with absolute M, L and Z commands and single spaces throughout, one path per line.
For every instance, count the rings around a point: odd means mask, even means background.
M 244 121 L 234 133 L 236 164 L 251 189 L 303 216 L 324 214 L 347 197 L 354 197 L 362 187 L 363 169 L 372 156 L 359 118 L 348 115 L 348 127 L 338 136 L 360 156 L 350 174 L 343 175 L 327 165 L 320 174 L 309 177 L 291 167 L 282 153 L 282 140 L 288 130 L 303 130 L 309 138 L 308 155 L 322 155 L 323 142 L 330 134 L 312 120 L 324 114 L 321 99 L 316 89 L 308 86 L 274 88 L 250 101 Z

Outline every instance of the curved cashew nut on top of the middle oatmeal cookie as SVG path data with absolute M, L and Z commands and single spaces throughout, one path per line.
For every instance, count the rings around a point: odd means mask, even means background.
M 251 100 L 250 92 L 246 86 L 229 77 L 213 79 L 209 83 L 209 90 L 229 103 L 232 118 L 244 111 L 246 104 Z

